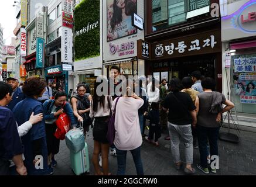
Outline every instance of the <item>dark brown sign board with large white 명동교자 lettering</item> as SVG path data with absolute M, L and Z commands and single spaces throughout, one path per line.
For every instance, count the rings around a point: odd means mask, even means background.
M 192 56 L 221 51 L 220 32 L 202 33 L 152 44 L 152 60 Z

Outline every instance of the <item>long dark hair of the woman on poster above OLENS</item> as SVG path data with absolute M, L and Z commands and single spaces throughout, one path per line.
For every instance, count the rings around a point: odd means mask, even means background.
M 136 4 L 131 0 L 125 0 L 125 14 L 127 16 L 131 16 L 134 12 L 136 12 Z M 115 26 L 122 22 L 122 9 L 117 6 L 117 0 L 113 2 L 113 15 L 110 22 L 112 32 L 115 29 Z

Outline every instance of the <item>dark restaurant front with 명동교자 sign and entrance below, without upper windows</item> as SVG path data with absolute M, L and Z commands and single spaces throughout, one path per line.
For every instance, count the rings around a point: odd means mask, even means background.
M 203 76 L 216 79 L 221 91 L 221 33 L 220 29 L 170 40 L 159 40 L 150 45 L 151 58 L 146 61 L 146 75 L 161 81 L 173 77 L 182 79 L 199 70 Z

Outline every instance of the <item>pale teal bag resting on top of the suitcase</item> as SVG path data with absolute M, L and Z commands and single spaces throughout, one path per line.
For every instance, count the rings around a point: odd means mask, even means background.
M 84 131 L 81 123 L 79 122 L 78 127 L 68 131 L 65 136 L 66 145 L 73 153 L 78 153 L 85 146 Z

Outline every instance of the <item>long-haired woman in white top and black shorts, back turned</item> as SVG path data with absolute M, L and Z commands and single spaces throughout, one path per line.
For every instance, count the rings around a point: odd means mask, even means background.
M 107 131 L 108 121 L 110 120 L 111 115 L 112 97 L 110 95 L 97 95 L 96 90 L 100 84 L 101 82 L 94 83 L 95 91 L 90 106 L 90 117 L 95 117 L 93 127 L 93 165 L 95 175 L 110 175 L 110 173 L 108 173 L 108 151 L 110 145 L 107 140 Z M 100 171 L 98 162 L 100 153 L 102 156 L 103 172 Z

